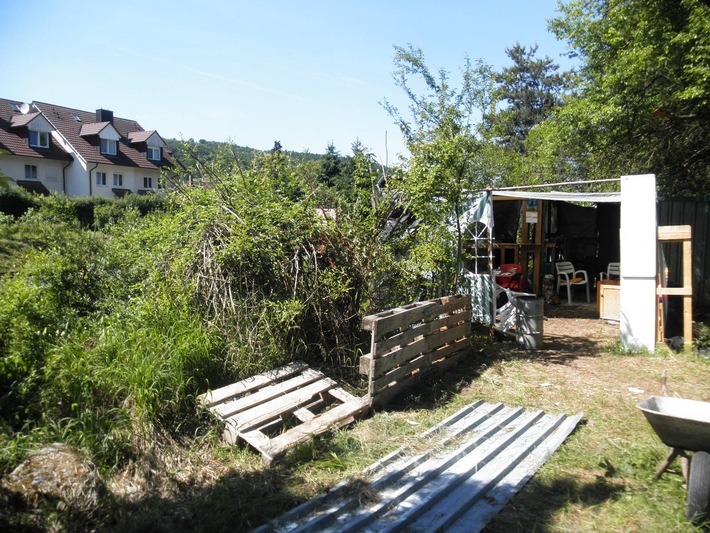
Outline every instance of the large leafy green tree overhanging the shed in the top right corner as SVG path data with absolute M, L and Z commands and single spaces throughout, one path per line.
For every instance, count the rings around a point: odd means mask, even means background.
M 549 173 L 653 172 L 665 195 L 710 195 L 710 6 L 574 0 L 551 22 L 579 84 L 530 149 Z

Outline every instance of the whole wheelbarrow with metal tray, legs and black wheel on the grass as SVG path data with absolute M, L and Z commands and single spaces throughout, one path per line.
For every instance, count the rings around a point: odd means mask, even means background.
M 686 518 L 710 521 L 710 402 L 651 396 L 637 404 L 663 443 L 672 448 L 655 473 L 656 478 L 681 457 L 688 487 Z M 688 468 L 688 454 L 693 452 Z

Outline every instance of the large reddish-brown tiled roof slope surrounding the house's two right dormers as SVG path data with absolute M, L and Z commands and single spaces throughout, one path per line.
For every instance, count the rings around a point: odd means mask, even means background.
M 179 165 L 179 162 L 167 150 L 162 151 L 163 157 L 160 161 L 149 161 L 145 152 L 138 150 L 140 146 L 136 147 L 131 144 L 130 134 L 145 131 L 135 120 L 114 117 L 113 127 L 116 128 L 122 139 L 118 142 L 118 153 L 115 156 L 107 156 L 99 153 L 99 141 L 95 134 L 87 134 L 87 132 L 98 133 L 105 127 L 105 124 L 96 122 L 95 112 L 44 102 L 33 102 L 33 104 L 87 162 L 150 169 Z

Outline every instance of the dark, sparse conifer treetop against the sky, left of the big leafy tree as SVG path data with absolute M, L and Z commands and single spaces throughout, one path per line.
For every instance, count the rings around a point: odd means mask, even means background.
M 525 153 L 530 130 L 562 105 L 568 77 L 549 57 L 536 58 L 537 48 L 517 43 L 506 49 L 513 64 L 494 75 L 499 109 L 488 121 L 498 141 L 520 154 Z

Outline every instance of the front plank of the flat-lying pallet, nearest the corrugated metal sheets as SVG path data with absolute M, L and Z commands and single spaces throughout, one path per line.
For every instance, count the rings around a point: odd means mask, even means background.
M 267 445 L 262 445 L 257 449 L 270 462 L 288 449 L 308 442 L 314 435 L 320 435 L 330 429 L 341 428 L 352 423 L 355 416 L 366 412 L 369 407 L 370 404 L 367 397 L 356 398 L 334 407 L 309 422 L 289 429 L 281 435 L 270 439 Z M 250 432 L 242 435 L 242 438 L 249 442 L 249 439 L 251 439 Z

